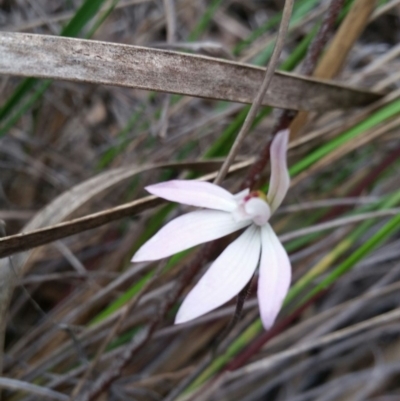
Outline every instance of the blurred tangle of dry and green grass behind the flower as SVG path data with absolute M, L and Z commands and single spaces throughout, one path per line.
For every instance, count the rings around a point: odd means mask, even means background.
M 239 149 L 243 165 L 223 186 L 236 190 L 277 126 L 291 124 L 292 187 L 272 224 L 290 254 L 293 284 L 269 332 L 253 284 L 220 343 L 235 301 L 173 325 L 212 255 L 130 259 L 186 210 L 143 206 L 144 186 L 218 171 L 249 106 L 1 75 L 3 399 L 399 399 L 399 7 L 295 1 L 278 70 L 334 79 L 378 100 L 349 107 L 343 98 L 297 116 L 260 109 Z M 281 1 L 257 0 L 2 0 L 0 26 L 265 67 L 282 9 Z M 304 102 L 329 98 L 326 86 L 318 90 Z M 261 159 L 265 187 L 268 158 Z M 14 236 L 96 212 L 96 221 L 106 216 L 96 228 L 39 233 L 41 247 Z

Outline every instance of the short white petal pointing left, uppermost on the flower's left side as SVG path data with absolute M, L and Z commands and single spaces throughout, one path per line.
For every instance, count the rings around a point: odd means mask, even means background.
M 237 207 L 234 196 L 205 181 L 172 180 L 149 185 L 146 190 L 160 198 L 185 205 L 232 212 Z

